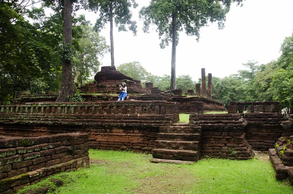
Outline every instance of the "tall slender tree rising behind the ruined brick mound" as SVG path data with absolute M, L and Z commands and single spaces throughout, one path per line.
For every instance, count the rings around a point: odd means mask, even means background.
M 130 7 L 132 6 L 134 8 L 138 6 L 135 0 L 89 0 L 88 9 L 100 12 L 100 18 L 97 19 L 94 26 L 95 30 L 100 32 L 105 24 L 110 22 L 111 66 L 115 66 L 113 19 L 119 31 L 127 31 L 126 25 L 128 25 L 129 30 L 136 35 L 136 22 L 131 21 L 132 13 Z

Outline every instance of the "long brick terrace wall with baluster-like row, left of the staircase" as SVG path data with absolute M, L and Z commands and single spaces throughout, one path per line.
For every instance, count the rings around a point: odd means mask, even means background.
M 159 127 L 179 120 L 178 103 L 122 101 L 2 106 L 0 134 L 89 133 L 90 148 L 151 151 Z

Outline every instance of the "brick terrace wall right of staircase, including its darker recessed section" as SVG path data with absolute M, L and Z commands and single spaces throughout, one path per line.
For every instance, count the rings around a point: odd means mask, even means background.
M 213 157 L 231 157 L 225 150 L 232 148 L 238 156 L 241 156 L 240 151 L 246 153 L 245 149 L 268 151 L 283 133 L 293 133 L 292 123 L 278 112 L 204 114 L 200 126 L 203 131 L 203 154 Z

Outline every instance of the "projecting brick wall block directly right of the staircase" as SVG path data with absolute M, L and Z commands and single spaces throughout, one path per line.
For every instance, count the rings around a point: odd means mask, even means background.
M 217 158 L 251 159 L 253 152 L 245 139 L 247 125 L 239 114 L 202 114 L 202 155 Z

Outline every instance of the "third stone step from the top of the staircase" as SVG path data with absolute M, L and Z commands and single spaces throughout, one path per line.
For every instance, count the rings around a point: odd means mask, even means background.
M 199 141 L 168 141 L 156 140 L 155 148 L 172 149 L 172 150 L 198 150 L 200 147 Z

